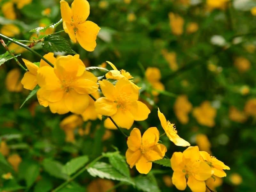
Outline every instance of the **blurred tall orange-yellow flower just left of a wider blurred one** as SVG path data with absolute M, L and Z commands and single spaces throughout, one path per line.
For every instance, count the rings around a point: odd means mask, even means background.
M 180 123 L 187 124 L 189 120 L 188 113 L 192 110 L 192 104 L 188 101 L 188 96 L 178 96 L 175 100 L 173 109 Z

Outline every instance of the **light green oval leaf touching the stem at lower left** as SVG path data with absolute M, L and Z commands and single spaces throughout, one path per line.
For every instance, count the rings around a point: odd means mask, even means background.
M 89 161 L 88 156 L 80 156 L 74 159 L 71 159 L 68 163 L 63 166 L 62 172 L 68 175 L 72 175 L 78 169 L 84 166 Z

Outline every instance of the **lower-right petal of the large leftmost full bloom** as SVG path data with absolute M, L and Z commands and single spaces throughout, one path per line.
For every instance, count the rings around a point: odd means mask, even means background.
M 64 95 L 64 102 L 68 110 L 77 114 L 84 112 L 89 105 L 89 99 L 88 94 L 79 94 L 74 90 L 70 90 Z

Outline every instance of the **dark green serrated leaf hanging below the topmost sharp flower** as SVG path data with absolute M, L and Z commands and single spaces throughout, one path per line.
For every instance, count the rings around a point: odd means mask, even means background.
M 52 34 L 46 36 L 42 46 L 47 52 L 66 52 L 76 54 L 76 52 L 71 49 L 68 41 L 60 35 Z

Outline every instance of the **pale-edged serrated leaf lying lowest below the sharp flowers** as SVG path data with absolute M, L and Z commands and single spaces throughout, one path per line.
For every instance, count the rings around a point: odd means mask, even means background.
M 118 172 L 112 165 L 104 163 L 104 162 L 97 162 L 92 167 L 88 168 L 87 171 L 92 175 L 92 177 L 100 177 L 105 179 L 112 179 L 112 180 L 118 180 L 118 181 L 124 181 L 129 184 L 134 185 L 134 182 L 128 178 L 122 175 L 120 172 Z

